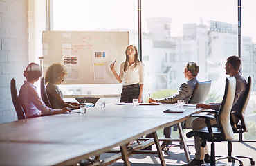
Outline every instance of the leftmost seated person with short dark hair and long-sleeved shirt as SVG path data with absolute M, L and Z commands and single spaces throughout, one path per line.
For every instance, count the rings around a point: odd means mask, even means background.
M 24 71 L 26 81 L 21 86 L 19 91 L 19 99 L 25 111 L 26 118 L 33 118 L 37 116 L 52 115 L 58 113 L 65 113 L 70 111 L 68 107 L 63 109 L 51 109 L 44 104 L 43 100 L 37 93 L 37 88 L 34 83 L 39 80 L 42 75 L 42 67 L 39 64 L 31 63 Z

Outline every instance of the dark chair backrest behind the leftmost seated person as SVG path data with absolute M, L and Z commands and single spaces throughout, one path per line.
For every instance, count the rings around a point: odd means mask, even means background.
M 19 97 L 16 89 L 16 81 L 14 78 L 10 80 L 10 93 L 12 95 L 12 103 L 13 103 L 13 106 L 15 107 L 18 120 L 26 119 L 26 114 L 24 112 L 24 109 L 21 106 L 21 102 L 19 101 Z

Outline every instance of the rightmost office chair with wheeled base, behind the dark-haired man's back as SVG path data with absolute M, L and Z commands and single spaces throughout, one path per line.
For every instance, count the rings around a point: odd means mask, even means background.
M 244 91 L 244 98 L 242 101 L 241 106 L 239 107 L 239 122 L 238 124 L 235 122 L 235 117 L 234 114 L 231 113 L 231 124 L 232 124 L 232 129 L 234 131 L 234 133 L 244 133 L 248 131 L 248 127 L 246 125 L 246 119 L 245 119 L 245 112 L 246 112 L 246 107 L 250 98 L 250 91 L 251 91 L 251 77 L 248 77 L 248 82 L 247 82 L 247 86 L 246 86 L 246 91 Z M 248 158 L 250 160 L 250 165 L 255 165 L 255 161 L 253 160 L 253 158 L 250 158 L 248 156 L 232 156 L 232 141 L 229 140 L 228 141 L 228 156 L 221 156 L 220 158 L 218 158 L 217 160 L 222 160 L 222 159 L 228 159 L 228 162 L 232 162 L 234 163 L 235 160 L 238 160 L 240 165 L 243 165 L 242 161 L 239 160 L 239 158 Z

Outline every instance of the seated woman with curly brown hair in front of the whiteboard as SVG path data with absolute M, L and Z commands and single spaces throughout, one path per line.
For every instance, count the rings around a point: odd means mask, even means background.
M 64 107 L 69 107 L 71 109 L 80 108 L 80 104 L 77 102 L 65 102 L 63 100 L 62 91 L 60 91 L 57 86 L 57 84 L 62 84 L 66 75 L 66 68 L 60 63 L 52 64 L 46 71 L 45 80 L 46 83 L 48 83 L 46 86 L 46 93 L 53 109 L 62 109 Z

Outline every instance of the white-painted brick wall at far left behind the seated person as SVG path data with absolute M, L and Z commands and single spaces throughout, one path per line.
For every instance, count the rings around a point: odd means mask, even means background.
M 0 0 L 0 124 L 17 120 L 10 80 L 17 91 L 28 65 L 28 0 Z

